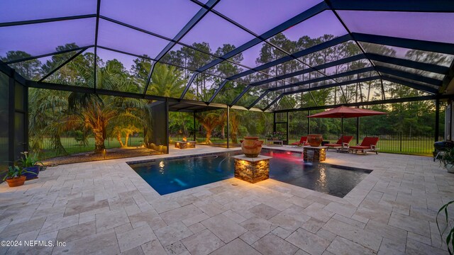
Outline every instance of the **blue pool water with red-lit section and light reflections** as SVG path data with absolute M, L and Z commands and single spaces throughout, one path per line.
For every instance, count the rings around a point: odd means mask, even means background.
M 156 159 L 154 162 L 130 166 L 157 193 L 165 195 L 233 177 L 234 160 L 240 152 L 211 154 L 179 159 Z M 263 149 L 262 155 L 271 156 L 270 179 L 309 188 L 343 198 L 355 188 L 371 170 L 353 169 L 330 164 L 305 163 L 301 153 Z

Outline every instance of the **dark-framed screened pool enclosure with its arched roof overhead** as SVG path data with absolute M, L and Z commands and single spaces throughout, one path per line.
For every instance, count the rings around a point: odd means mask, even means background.
M 4 1 L 0 162 L 28 149 L 31 88 L 142 99 L 167 150 L 168 111 L 274 113 L 289 140 L 289 113 L 411 101 L 437 140 L 453 22 L 450 0 Z

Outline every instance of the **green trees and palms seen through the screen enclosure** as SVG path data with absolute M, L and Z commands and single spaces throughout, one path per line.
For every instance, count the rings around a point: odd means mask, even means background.
M 284 34 L 276 35 L 270 39 L 270 43 L 262 44 L 260 54 L 255 60 L 257 65 L 265 64 L 272 60 L 284 57 L 286 54 L 272 45 L 276 45 L 285 52 L 298 52 L 321 42 L 333 39 L 333 35 L 323 35 L 320 38 L 309 38 L 303 36 L 299 40 L 292 41 Z M 396 56 L 397 50 L 382 45 L 364 44 L 362 45 L 367 52 L 376 52 L 381 55 Z M 55 50 L 70 50 L 78 47 L 74 43 L 58 46 Z M 209 43 L 196 42 L 192 47 L 212 55 L 221 56 L 235 49 L 235 45 L 225 44 L 216 50 L 211 50 Z M 213 57 L 189 47 L 181 47 L 179 50 L 170 51 L 162 59 L 162 63 L 155 64 L 153 77 L 147 94 L 156 96 L 167 96 L 179 98 L 195 69 L 211 62 Z M 354 42 L 344 42 L 340 45 L 314 52 L 299 60 L 292 60 L 278 64 L 275 67 L 256 72 L 234 81 L 228 81 L 221 93 L 216 96 L 214 102 L 231 103 L 236 96 L 245 88 L 247 84 L 254 81 L 279 77 L 283 74 L 297 72 L 309 67 L 316 67 L 320 64 L 341 60 L 345 57 L 360 54 L 361 50 Z M 60 55 L 53 55 L 45 62 L 39 60 L 28 60 L 11 64 L 11 67 L 23 75 L 26 79 L 38 80 L 40 77 L 52 72 L 62 62 L 76 54 L 68 52 Z M 11 60 L 31 57 L 23 51 L 6 52 L 6 56 L 1 60 L 8 62 Z M 436 53 L 421 52 L 418 50 L 408 50 L 404 56 L 406 59 L 419 62 L 431 62 L 433 64 L 446 64 L 449 59 L 445 55 Z M 214 94 L 218 85 L 226 77 L 248 69 L 240 63 L 243 55 L 240 53 L 230 59 L 231 62 L 221 62 L 216 67 L 199 74 L 194 79 L 193 85 L 189 88 L 185 98 L 208 101 Z M 93 86 L 94 84 L 94 64 L 96 62 L 96 88 L 109 89 L 114 91 L 125 91 L 132 93 L 142 93 L 145 81 L 148 79 L 152 61 L 146 55 L 137 57 L 133 60 L 133 65 L 128 68 L 123 65 L 121 60 L 101 60 L 99 56 L 94 59 L 92 52 L 84 52 L 68 62 L 57 72 L 50 75 L 45 81 L 56 84 L 70 84 L 75 86 Z M 380 63 L 375 63 L 380 64 Z M 335 67 L 320 69 L 314 72 L 289 77 L 287 79 L 270 81 L 261 86 L 255 86 L 248 91 L 243 98 L 238 101 L 241 106 L 250 106 L 266 89 L 276 88 L 282 85 L 289 85 L 298 81 L 309 81 L 326 77 L 326 74 L 339 74 L 363 67 L 370 67 L 371 63 L 367 60 L 357 60 Z M 396 67 L 399 68 L 399 67 Z M 406 72 L 424 74 L 423 71 L 416 69 L 405 69 Z M 308 89 L 314 86 L 323 86 L 336 82 L 347 81 L 350 79 L 360 79 L 363 77 L 374 76 L 374 72 L 355 74 L 354 77 L 341 77 L 338 79 L 326 79 L 312 84 L 294 86 L 289 89 L 272 91 L 260 100 L 255 107 L 265 108 L 282 92 L 294 91 L 297 89 Z M 280 101 L 272 106 L 271 110 L 301 108 L 310 106 L 326 106 L 339 103 L 353 103 L 361 101 L 373 101 L 386 98 L 403 98 L 410 96 L 421 96 L 423 92 L 409 89 L 406 86 L 385 82 L 382 88 L 380 81 L 367 81 L 358 84 L 350 84 L 341 87 L 331 87 L 318 91 L 301 92 L 283 96 Z M 101 151 L 105 148 L 104 140 L 106 137 L 117 137 L 121 144 L 126 145 L 127 141 L 121 141 L 121 137 L 128 137 L 134 132 L 143 132 L 143 135 L 151 135 L 150 130 L 150 101 L 135 98 L 121 98 L 114 96 L 97 96 L 90 94 L 69 93 L 65 91 L 50 91 L 45 89 L 30 90 L 30 131 L 32 147 L 40 148 L 40 137 L 52 137 L 52 145 L 57 152 L 65 152 L 60 142 L 62 134 L 69 130 L 78 130 L 84 137 L 93 135 L 96 140 L 95 150 Z M 433 102 L 420 101 L 412 103 L 400 103 L 384 106 L 370 106 L 378 111 L 387 111 L 389 115 L 383 118 L 367 118 L 362 123 L 368 130 L 377 132 L 408 131 L 412 132 L 433 132 L 434 106 Z M 198 130 L 204 130 L 206 142 L 215 134 L 225 137 L 225 113 L 200 113 L 197 120 Z M 253 116 L 253 117 L 250 117 Z M 271 117 L 270 117 L 271 116 Z M 183 113 L 171 113 L 170 115 L 171 135 L 191 132 L 192 116 Z M 64 121 L 62 121 L 64 120 Z M 304 125 L 304 114 L 301 118 L 291 118 L 291 127 L 300 129 Z M 272 115 L 266 113 L 256 113 L 247 111 L 233 111 L 231 115 L 231 135 L 234 140 L 240 135 L 264 134 L 272 128 Z M 323 120 L 312 122 L 323 132 L 338 130 L 338 120 Z M 366 125 L 367 124 L 367 125 Z M 346 126 L 348 129 L 348 125 Z M 217 130 L 217 131 L 216 131 Z M 196 130 L 193 130 L 194 132 Z

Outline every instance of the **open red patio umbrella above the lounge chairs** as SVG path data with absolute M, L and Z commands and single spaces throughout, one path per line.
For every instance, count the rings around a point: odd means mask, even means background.
M 307 116 L 307 118 L 341 118 L 341 133 L 343 135 L 343 119 L 344 118 L 356 118 L 372 115 L 387 114 L 379 111 L 372 111 L 362 108 L 350 108 L 347 106 L 339 106 L 323 113 L 316 113 L 314 115 Z

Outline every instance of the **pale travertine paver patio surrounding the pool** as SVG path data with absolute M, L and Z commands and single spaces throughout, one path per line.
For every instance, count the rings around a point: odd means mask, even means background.
M 25 186 L 0 185 L 0 239 L 67 245 L 0 254 L 447 254 L 435 215 L 454 199 L 454 174 L 430 157 L 327 158 L 374 171 L 345 198 L 238 179 L 160 196 L 126 164 L 132 159 L 50 167 Z

